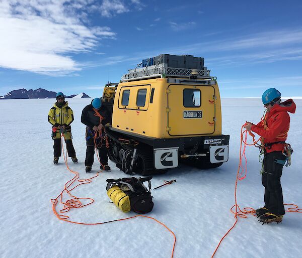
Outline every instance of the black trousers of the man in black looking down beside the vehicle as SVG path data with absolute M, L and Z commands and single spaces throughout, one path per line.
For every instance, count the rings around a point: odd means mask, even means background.
M 92 166 L 94 162 L 95 143 L 93 138 L 93 131 L 86 128 L 86 159 L 85 166 Z M 108 155 L 106 142 L 104 139 L 96 139 L 97 149 L 99 150 L 99 158 L 103 166 L 108 165 Z

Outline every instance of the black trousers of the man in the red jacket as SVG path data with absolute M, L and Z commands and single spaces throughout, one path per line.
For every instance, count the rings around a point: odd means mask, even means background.
M 265 208 L 275 215 L 284 215 L 283 194 L 281 187 L 281 176 L 283 165 L 275 162 L 285 160 L 282 152 L 265 153 L 263 159 L 264 172 L 262 174 L 262 185 L 264 189 Z

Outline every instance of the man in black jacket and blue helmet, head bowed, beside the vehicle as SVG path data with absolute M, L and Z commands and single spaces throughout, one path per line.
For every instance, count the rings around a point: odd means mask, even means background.
M 95 146 L 99 150 L 101 167 L 109 171 L 111 168 L 108 166 L 108 155 L 106 147 L 106 139 L 104 137 L 104 126 L 110 122 L 111 115 L 108 109 L 102 105 L 100 98 L 94 98 L 91 104 L 87 105 L 81 116 L 81 121 L 86 126 L 86 159 L 85 166 L 86 172 L 89 173 L 92 169 L 94 162 L 94 149 Z

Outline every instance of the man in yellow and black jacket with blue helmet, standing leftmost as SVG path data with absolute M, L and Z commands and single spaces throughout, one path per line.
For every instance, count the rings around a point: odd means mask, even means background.
M 75 156 L 75 151 L 72 145 L 70 126 L 70 123 L 73 121 L 73 112 L 68 106 L 67 101 L 65 101 L 65 97 L 62 92 L 58 92 L 56 94 L 56 100 L 57 102 L 54 103 L 48 113 L 48 122 L 52 124 L 52 139 L 54 141 L 53 164 L 57 164 L 59 157 L 61 157 L 61 133 L 64 136 L 68 156 L 71 157 L 71 160 L 75 163 L 78 162 L 78 159 Z

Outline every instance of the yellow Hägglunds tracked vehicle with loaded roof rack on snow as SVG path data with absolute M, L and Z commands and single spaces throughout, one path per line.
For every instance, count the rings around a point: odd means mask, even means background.
M 203 58 L 163 54 L 141 65 L 104 88 L 102 103 L 112 111 L 110 160 L 142 175 L 180 162 L 216 168 L 228 161 L 218 84 Z

